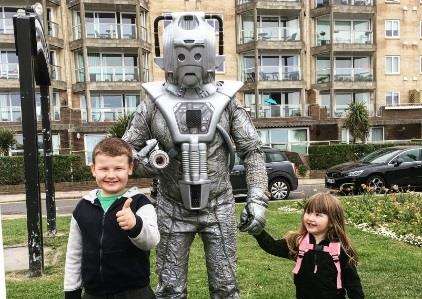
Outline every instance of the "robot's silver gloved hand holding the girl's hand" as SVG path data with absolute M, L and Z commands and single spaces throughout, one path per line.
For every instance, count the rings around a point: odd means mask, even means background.
M 239 230 L 259 235 L 265 227 L 267 207 L 268 197 L 260 188 L 249 190 L 246 206 L 240 215 Z

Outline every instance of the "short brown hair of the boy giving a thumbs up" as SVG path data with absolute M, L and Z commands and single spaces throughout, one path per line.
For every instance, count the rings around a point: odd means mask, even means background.
M 132 148 L 130 145 L 117 137 L 107 137 L 101 140 L 92 151 L 92 163 L 95 164 L 95 157 L 99 154 L 109 157 L 117 157 L 125 155 L 129 164 L 133 161 Z

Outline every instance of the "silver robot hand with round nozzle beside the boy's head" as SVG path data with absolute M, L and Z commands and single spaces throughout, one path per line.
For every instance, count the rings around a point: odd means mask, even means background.
M 150 174 L 158 174 L 158 171 L 166 168 L 170 161 L 167 153 L 158 148 L 156 139 L 147 140 L 146 145 L 139 152 L 134 153 L 133 158 Z

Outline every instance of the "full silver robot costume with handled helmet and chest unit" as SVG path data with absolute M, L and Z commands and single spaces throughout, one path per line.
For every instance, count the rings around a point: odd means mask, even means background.
M 219 55 L 207 19 L 219 22 Z M 164 30 L 163 57 L 158 42 L 161 20 L 171 21 Z M 155 145 L 145 146 L 147 140 L 156 139 L 170 157 L 166 168 L 155 171 L 161 235 L 156 296 L 186 298 L 189 249 L 199 234 L 211 298 L 239 298 L 235 202 L 229 175 L 234 145 L 244 160 L 249 190 L 240 223 L 243 231 L 259 233 L 265 225 L 267 175 L 259 136 L 234 99 L 242 83 L 215 82 L 215 69 L 224 62 L 223 22 L 219 16 L 201 12 L 172 13 L 155 20 L 154 33 L 155 62 L 165 71 L 166 81 L 143 84 L 149 97 L 139 105 L 123 139 L 141 150 L 139 156 L 147 169 L 154 161 L 142 158 Z

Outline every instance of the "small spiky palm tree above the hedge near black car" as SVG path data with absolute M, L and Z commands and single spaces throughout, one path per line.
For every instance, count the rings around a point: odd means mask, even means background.
M 352 102 L 347 108 L 347 117 L 344 126 L 349 129 L 353 143 L 356 140 L 366 142 L 369 134 L 369 113 L 362 102 Z

